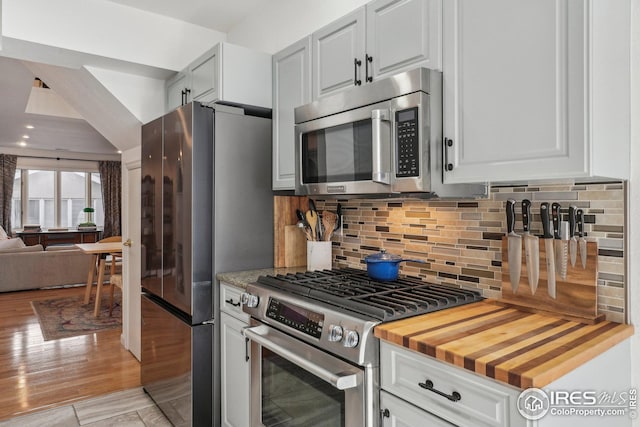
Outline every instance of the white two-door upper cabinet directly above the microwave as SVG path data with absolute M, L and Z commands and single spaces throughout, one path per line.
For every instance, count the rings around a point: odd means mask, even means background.
M 441 0 L 374 0 L 313 33 L 313 99 L 415 67 L 440 69 Z

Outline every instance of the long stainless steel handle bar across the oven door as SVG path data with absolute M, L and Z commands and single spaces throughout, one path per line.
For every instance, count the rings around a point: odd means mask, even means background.
M 338 390 L 357 387 L 360 382 L 358 376 L 359 370 L 355 367 L 339 360 L 336 360 L 338 363 L 327 363 L 326 360 L 325 363 L 322 363 L 325 358 L 332 357 L 306 344 L 302 344 L 305 348 L 302 352 L 303 354 L 301 354 L 301 352 L 296 351 L 291 345 L 293 338 L 275 331 L 267 325 L 245 328 L 243 329 L 243 334 L 256 344 L 268 348 L 306 371 L 311 372 Z M 299 347 L 300 345 L 300 342 L 296 342 L 296 346 Z M 317 352 L 318 357 L 309 357 L 310 354 L 314 352 Z M 310 359 L 316 360 L 311 361 Z

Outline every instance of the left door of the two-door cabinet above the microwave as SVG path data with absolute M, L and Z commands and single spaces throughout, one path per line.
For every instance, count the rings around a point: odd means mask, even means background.
M 364 20 L 363 6 L 312 34 L 314 100 L 364 83 Z

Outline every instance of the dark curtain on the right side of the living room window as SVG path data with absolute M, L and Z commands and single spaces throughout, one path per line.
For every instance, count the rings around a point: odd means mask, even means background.
M 104 230 L 102 238 L 122 236 L 122 173 L 120 162 L 100 161 L 100 182 L 102 183 L 102 204 L 104 206 Z

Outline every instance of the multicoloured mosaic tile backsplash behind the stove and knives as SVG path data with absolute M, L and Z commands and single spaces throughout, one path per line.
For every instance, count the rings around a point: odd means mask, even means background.
M 585 237 L 598 242 L 598 313 L 626 321 L 625 183 L 553 183 L 494 186 L 481 200 L 319 200 L 318 210 L 342 205 L 343 228 L 333 237 L 335 267 L 365 269 L 367 255 L 386 249 L 425 264 L 402 263 L 400 273 L 432 282 L 480 289 L 501 296 L 501 239 L 505 201 L 517 203 L 516 232 L 522 232 L 520 201 L 532 202 L 532 232 L 542 234 L 540 203 L 584 210 Z M 579 262 L 579 261 L 578 261 Z

